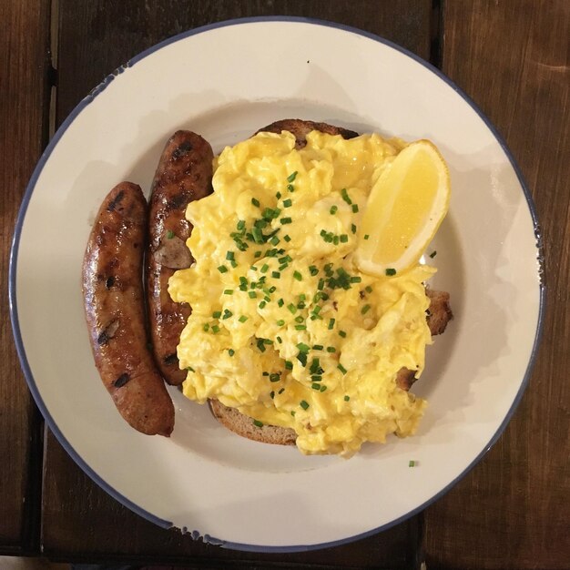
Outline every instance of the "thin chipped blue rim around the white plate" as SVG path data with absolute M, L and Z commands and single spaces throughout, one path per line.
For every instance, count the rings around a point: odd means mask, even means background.
M 37 178 L 39 178 L 43 168 L 46 165 L 47 160 L 50 158 L 51 153 L 53 152 L 54 148 L 56 148 L 56 145 L 57 145 L 59 139 L 64 135 L 67 128 L 73 123 L 73 121 L 79 115 L 79 113 L 81 113 L 83 111 L 83 109 L 85 107 L 87 107 L 95 99 L 95 97 L 97 97 L 97 95 L 102 93 L 105 90 L 105 88 L 107 88 L 107 86 L 115 79 L 115 77 L 117 77 L 118 75 L 123 73 L 127 68 L 136 65 L 137 62 L 141 61 L 145 57 L 148 57 L 151 54 L 153 54 L 154 52 L 158 51 L 162 47 L 168 46 L 168 45 L 175 43 L 175 42 L 178 42 L 180 40 L 184 40 L 190 36 L 196 36 L 198 34 L 209 32 L 211 30 L 214 30 L 214 29 L 217 29 L 220 27 L 228 27 L 231 25 L 263 24 L 263 23 L 268 23 L 268 22 L 289 22 L 289 23 L 298 23 L 298 24 L 321 25 L 321 26 L 325 26 L 325 27 L 340 29 L 342 31 L 349 32 L 349 33 L 352 33 L 352 34 L 355 34 L 358 36 L 367 37 L 367 38 L 372 39 L 376 42 L 379 42 L 385 46 L 392 47 L 392 49 L 395 49 L 396 51 L 402 53 L 404 56 L 411 57 L 414 61 L 416 61 L 417 63 L 426 67 L 433 74 L 435 74 L 440 79 L 442 79 L 449 87 L 452 87 L 453 90 L 458 95 L 460 95 L 463 98 L 463 100 L 470 107 L 473 108 L 473 110 L 477 113 L 478 117 L 480 117 L 481 120 L 483 120 L 483 123 L 485 124 L 485 126 L 487 128 L 489 128 L 489 130 L 493 134 L 496 141 L 499 143 L 501 148 L 503 148 L 505 156 L 509 159 L 511 166 L 514 169 L 516 177 L 517 177 L 517 179 L 521 185 L 521 188 L 523 189 L 524 198 L 526 198 L 526 202 L 527 202 L 527 206 L 528 206 L 528 209 L 529 209 L 529 212 L 531 215 L 531 219 L 533 220 L 534 236 L 536 238 L 536 259 L 537 259 L 537 263 L 538 263 L 538 270 L 537 270 L 537 275 L 538 275 L 537 285 L 539 288 L 538 319 L 536 322 L 536 331 L 534 334 L 533 348 L 532 348 L 532 351 L 530 354 L 529 361 L 527 363 L 526 371 L 524 372 L 524 378 L 523 378 L 523 381 L 521 382 L 521 386 L 520 386 L 518 392 L 516 393 L 516 395 L 514 397 L 514 401 L 513 401 L 511 408 L 509 409 L 509 411 L 507 412 L 507 414 L 504 417 L 504 421 L 500 424 L 500 426 L 498 427 L 497 431 L 494 433 L 494 435 L 490 439 L 490 441 L 483 447 L 483 450 L 473 459 L 473 461 L 463 470 L 463 472 L 459 473 L 459 475 L 457 475 L 453 479 L 452 482 L 448 483 L 445 487 L 443 487 L 443 489 L 439 493 L 434 494 L 430 499 L 428 499 L 424 503 L 420 504 L 416 508 L 412 509 L 412 511 L 410 511 L 406 514 L 403 514 L 402 516 L 398 517 L 397 519 L 394 519 L 390 523 L 382 524 L 381 526 L 373 528 L 370 531 L 367 531 L 365 533 L 354 534 L 352 536 L 342 538 L 342 539 L 339 539 L 336 541 L 331 541 L 331 542 L 327 542 L 327 543 L 320 543 L 317 545 L 284 545 L 284 546 L 283 545 L 281 545 L 281 546 L 250 545 L 250 544 L 245 544 L 245 543 L 234 543 L 231 541 L 226 541 L 223 539 L 219 539 L 219 538 L 210 536 L 209 534 L 201 534 L 197 530 L 189 532 L 189 534 L 192 536 L 193 539 L 202 538 L 203 541 L 207 544 L 220 545 L 224 548 L 246 551 L 246 552 L 294 553 L 294 552 L 304 552 L 304 551 L 318 550 L 318 549 L 322 549 L 322 548 L 331 548 L 334 546 L 346 545 L 346 544 L 349 544 L 351 542 L 361 540 L 363 538 L 367 538 L 369 536 L 372 536 L 372 534 L 380 533 L 382 531 L 385 531 L 385 530 L 391 528 L 392 526 L 394 526 L 396 524 L 402 523 L 403 521 L 407 520 L 408 518 L 411 518 L 415 514 L 420 513 L 427 506 L 429 506 L 430 504 L 433 504 L 435 501 L 437 501 L 439 498 L 441 498 L 443 496 L 443 494 L 446 494 L 455 484 L 459 483 L 459 481 L 461 481 L 463 479 L 463 477 L 473 469 L 474 465 L 476 463 L 479 463 L 479 461 L 483 458 L 483 455 L 485 453 L 487 453 L 494 446 L 494 443 L 497 442 L 497 440 L 499 439 L 501 434 L 504 432 L 506 425 L 508 424 L 508 422 L 510 422 L 510 420 L 511 420 L 515 410 L 517 409 L 519 403 L 521 402 L 521 399 L 522 399 L 524 392 L 526 390 L 526 387 L 528 385 L 531 372 L 534 368 L 534 363 L 536 360 L 538 347 L 540 345 L 540 341 L 542 339 L 542 335 L 544 332 L 545 301 L 546 301 L 545 284 L 544 284 L 543 280 L 541 279 L 542 275 L 543 275 L 542 239 L 541 239 L 541 232 L 540 232 L 540 227 L 539 227 L 539 223 L 538 223 L 536 208 L 534 206 L 534 201 L 533 201 L 533 198 L 531 196 L 530 190 L 528 189 L 526 182 L 524 180 L 524 176 L 523 176 L 523 173 L 521 171 L 521 168 L 518 166 L 516 160 L 513 157 L 513 154 L 511 153 L 510 149 L 507 147 L 502 135 L 498 132 L 497 128 L 494 127 L 494 125 L 490 121 L 490 119 L 483 114 L 483 111 L 473 102 L 473 99 L 471 97 L 469 97 L 468 95 L 466 95 L 460 87 L 456 86 L 455 83 L 453 83 L 453 81 L 449 77 L 445 76 L 440 69 L 433 66 L 429 62 L 425 61 L 424 59 L 422 59 L 422 57 L 413 54 L 408 49 L 406 49 L 402 46 L 399 46 L 399 45 L 393 43 L 391 40 L 383 38 L 382 36 L 377 36 L 375 34 L 372 34 L 371 32 L 366 32 L 364 30 L 353 27 L 351 25 L 343 25 L 343 24 L 339 24 L 336 22 L 330 22 L 330 21 L 321 20 L 321 19 L 317 19 L 317 18 L 307 18 L 307 17 L 300 17 L 300 16 L 268 15 L 268 16 L 251 16 L 251 17 L 245 17 L 245 18 L 235 18 L 235 19 L 230 19 L 230 20 L 224 20 L 224 21 L 215 22 L 215 23 L 209 24 L 209 25 L 202 25 L 202 26 L 199 26 L 197 28 L 188 30 L 186 32 L 182 32 L 176 36 L 168 37 L 167 39 L 163 40 L 162 42 L 159 42 L 158 44 L 156 44 L 154 46 L 148 47 L 148 49 L 140 52 L 139 54 L 137 54 L 137 56 L 134 56 L 131 59 L 129 59 L 125 65 L 119 66 L 115 70 L 115 72 L 113 72 L 112 74 L 109 74 L 105 79 L 103 79 L 103 81 L 101 83 L 99 83 L 99 85 L 97 85 L 97 87 L 92 89 L 92 91 L 87 95 L 87 97 L 84 97 L 76 105 L 76 107 L 73 109 L 73 111 L 66 117 L 64 122 L 57 129 L 56 134 L 54 135 L 54 137 L 52 137 L 51 141 L 47 145 L 42 156 L 38 160 L 36 168 L 34 169 L 34 172 L 32 173 L 32 176 L 31 176 L 31 178 L 27 184 L 27 187 L 25 188 L 25 194 L 24 194 L 24 197 L 22 199 L 22 204 L 20 206 L 18 216 L 16 219 L 16 223 L 15 223 L 15 231 L 14 231 L 14 237 L 12 240 L 12 247 L 10 249 L 10 259 L 9 259 L 9 269 L 8 269 L 8 306 L 9 306 L 9 311 L 10 311 L 10 319 L 12 322 L 12 331 L 13 331 L 14 338 L 15 338 L 15 348 L 16 348 L 16 352 L 18 354 L 18 358 L 20 360 L 20 363 L 22 365 L 22 369 L 23 369 L 23 372 L 25 375 L 25 381 L 28 384 L 30 392 L 32 392 L 32 396 L 34 397 L 34 400 L 36 401 L 37 407 L 39 408 L 40 412 L 44 416 L 50 430 L 54 433 L 58 442 L 64 447 L 66 452 L 71 456 L 71 458 L 75 461 L 75 463 L 95 483 L 97 483 L 98 486 L 100 486 L 104 491 L 106 491 L 107 494 L 110 494 L 113 498 L 115 498 L 119 503 L 124 504 L 125 506 L 127 506 L 128 509 L 130 509 L 134 513 L 139 514 L 140 516 L 146 518 L 151 523 L 158 524 L 158 526 L 161 526 L 163 528 L 172 527 L 173 524 L 170 521 L 162 519 L 155 514 L 149 513 L 148 511 L 146 511 L 142 507 L 138 506 L 137 504 L 135 504 L 132 501 L 130 501 L 129 499 L 127 499 L 127 497 L 125 497 L 123 494 L 120 494 L 116 489 L 114 489 L 105 480 L 103 480 L 87 464 L 87 462 L 79 455 L 79 453 L 76 452 L 76 450 L 73 448 L 73 446 L 66 440 L 66 437 L 64 436 L 64 434 L 61 433 L 61 431 L 57 427 L 57 424 L 56 424 L 54 418 L 51 416 L 51 414 L 47 410 L 46 405 L 43 402 L 43 399 L 41 397 L 41 394 L 37 389 L 36 381 L 34 379 L 34 376 L 31 372 L 31 369 L 30 369 L 28 361 L 27 361 L 27 357 L 25 354 L 24 342 L 22 340 L 19 321 L 18 321 L 17 299 L 16 299 L 16 290 L 15 290 L 15 275 L 17 272 L 17 255 L 18 255 L 19 243 L 20 243 L 20 238 L 21 238 L 21 232 L 22 232 L 22 228 L 23 228 L 23 224 L 24 224 L 24 220 L 25 220 L 25 213 L 27 211 L 29 201 L 30 201 L 32 194 L 34 192 L 34 188 L 36 187 Z M 188 529 L 183 528 L 182 531 L 186 533 L 186 532 L 188 532 Z

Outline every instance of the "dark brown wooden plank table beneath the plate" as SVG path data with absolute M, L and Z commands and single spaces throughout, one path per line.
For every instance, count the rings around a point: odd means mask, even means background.
M 384 36 L 440 67 L 504 135 L 532 191 L 548 303 L 528 390 L 494 448 L 424 512 L 351 545 L 293 555 L 223 550 L 132 514 L 44 428 L 7 316 L 8 252 L 25 185 L 54 129 L 113 69 L 198 25 L 304 15 Z M 567 0 L 5 0 L 0 4 L 2 382 L 0 554 L 192 567 L 570 567 L 570 4 Z

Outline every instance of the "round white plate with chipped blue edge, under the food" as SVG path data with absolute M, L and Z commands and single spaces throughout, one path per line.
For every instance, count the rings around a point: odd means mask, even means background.
M 87 339 L 81 260 L 107 191 L 128 179 L 148 192 L 178 128 L 219 151 L 285 117 L 430 138 L 451 170 L 433 285 L 451 292 L 455 319 L 414 386 L 430 406 L 416 436 L 365 446 L 349 461 L 243 440 L 176 389 L 172 437 L 141 435 L 119 417 Z M 17 221 L 15 340 L 56 437 L 138 514 L 231 548 L 337 545 L 420 511 L 503 431 L 541 329 L 535 229 L 529 193 L 494 128 L 416 56 L 359 30 L 300 18 L 210 25 L 131 60 L 57 131 Z

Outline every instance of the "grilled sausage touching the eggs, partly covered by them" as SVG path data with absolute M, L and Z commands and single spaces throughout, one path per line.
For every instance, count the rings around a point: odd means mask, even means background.
M 148 321 L 153 353 L 163 378 L 172 385 L 186 379 L 178 367 L 177 345 L 191 309 L 168 295 L 168 279 L 186 269 L 192 256 L 186 240 L 192 230 L 185 218 L 192 200 L 211 192 L 212 160 L 209 143 L 187 130 L 177 131 L 158 162 L 150 196 L 147 251 Z

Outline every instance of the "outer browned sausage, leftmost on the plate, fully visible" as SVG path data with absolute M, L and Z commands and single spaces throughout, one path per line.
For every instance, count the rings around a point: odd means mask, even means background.
M 138 432 L 169 436 L 174 405 L 148 350 L 142 262 L 147 201 L 121 182 L 103 201 L 83 261 L 91 348 L 118 412 Z

